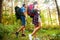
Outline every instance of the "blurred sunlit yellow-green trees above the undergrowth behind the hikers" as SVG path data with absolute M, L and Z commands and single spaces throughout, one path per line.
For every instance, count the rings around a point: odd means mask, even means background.
M 34 0 L 36 1 L 36 0 Z M 14 24 L 16 22 L 15 10 L 16 5 L 20 6 L 23 3 L 28 5 L 28 2 L 34 2 L 32 0 L 3 0 L 2 3 L 2 23 Z M 59 0 L 38 0 L 38 6 L 40 9 L 40 16 L 42 19 L 42 25 L 59 25 Z M 1 17 L 0 17 L 1 18 Z M 13 19 L 14 18 L 14 19 Z

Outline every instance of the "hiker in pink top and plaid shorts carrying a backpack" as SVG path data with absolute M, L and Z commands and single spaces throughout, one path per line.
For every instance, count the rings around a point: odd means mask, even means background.
M 34 24 L 34 30 L 31 34 L 29 34 L 29 39 L 32 40 L 32 36 L 34 36 L 34 40 L 38 39 L 36 36 L 36 32 L 41 28 L 41 19 L 38 13 L 38 3 L 34 2 L 28 7 L 28 15 L 32 18 L 32 23 Z M 31 10 L 30 10 L 31 9 Z

